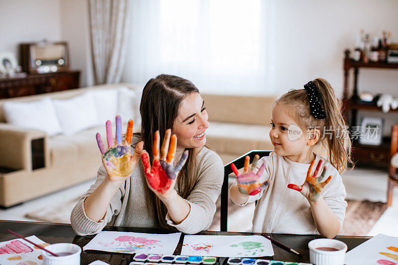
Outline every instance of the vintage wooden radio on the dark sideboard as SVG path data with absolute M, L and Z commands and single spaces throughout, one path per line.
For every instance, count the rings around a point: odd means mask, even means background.
M 60 42 L 32 42 L 19 45 L 22 70 L 30 74 L 67 71 L 69 68 L 68 44 Z

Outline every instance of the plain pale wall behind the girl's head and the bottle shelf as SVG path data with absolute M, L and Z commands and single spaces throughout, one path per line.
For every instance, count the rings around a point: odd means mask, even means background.
M 398 42 L 397 11 L 396 0 L 277 0 L 278 90 L 301 88 L 315 77 L 324 77 L 341 96 L 344 50 L 355 47 L 361 28 L 372 38 L 390 30 L 393 41 Z M 360 91 L 398 94 L 397 83 L 397 71 L 360 70 Z

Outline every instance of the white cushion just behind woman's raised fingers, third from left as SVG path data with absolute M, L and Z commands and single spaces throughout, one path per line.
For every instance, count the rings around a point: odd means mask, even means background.
M 134 92 L 134 91 L 133 91 Z M 118 114 L 118 96 L 117 89 L 99 89 L 91 90 L 94 104 L 98 115 L 98 125 L 103 125 L 107 120 L 114 122 L 115 116 Z

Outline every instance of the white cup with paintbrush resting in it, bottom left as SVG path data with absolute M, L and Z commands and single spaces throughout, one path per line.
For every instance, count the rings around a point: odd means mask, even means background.
M 58 254 L 63 252 L 72 253 L 68 256 L 55 257 L 50 253 L 42 250 L 41 256 L 43 257 L 43 265 L 80 265 L 80 253 L 82 249 L 75 244 L 58 243 L 45 247 L 46 250 Z

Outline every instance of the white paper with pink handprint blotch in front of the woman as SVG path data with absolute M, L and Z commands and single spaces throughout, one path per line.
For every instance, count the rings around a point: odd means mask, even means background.
M 83 250 L 116 253 L 156 253 L 173 255 L 181 233 L 144 234 L 134 232 L 101 231 Z

